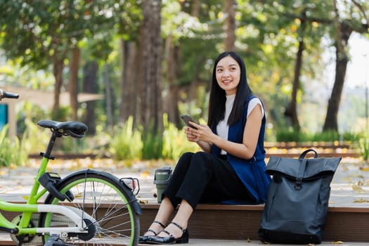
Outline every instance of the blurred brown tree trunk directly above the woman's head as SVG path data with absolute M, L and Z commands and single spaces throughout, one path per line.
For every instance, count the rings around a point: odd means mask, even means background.
M 235 50 L 235 2 L 234 0 L 226 0 L 224 2 L 224 13 L 226 13 L 226 39 L 224 40 L 224 48 L 226 51 Z

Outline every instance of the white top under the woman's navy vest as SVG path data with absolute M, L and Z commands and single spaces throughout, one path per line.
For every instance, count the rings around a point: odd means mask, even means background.
M 235 101 L 235 94 L 231 96 L 226 96 L 226 112 L 224 112 L 224 119 L 221 120 L 216 126 L 216 133 L 218 134 L 218 136 L 220 136 L 223 139 L 228 139 L 228 129 L 229 129 L 228 118 L 229 118 L 229 115 L 231 115 L 234 101 Z M 262 114 L 262 117 L 264 117 L 264 108 L 259 98 L 252 98 L 250 100 L 249 105 L 247 107 L 247 117 L 249 117 L 250 112 L 252 112 L 252 110 L 254 110 L 254 108 L 257 105 L 260 105 L 261 114 Z M 226 154 L 227 154 L 226 151 L 221 150 L 221 155 L 226 155 Z

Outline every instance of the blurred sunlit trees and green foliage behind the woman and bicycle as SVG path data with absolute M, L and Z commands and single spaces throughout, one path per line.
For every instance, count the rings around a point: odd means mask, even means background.
M 224 50 L 245 59 L 266 107 L 266 141 L 353 141 L 368 150 L 360 140 L 368 85 L 344 87 L 347 41 L 369 37 L 368 1 L 0 0 L 0 11 L 1 87 L 53 94 L 52 106 L 16 105 L 14 144 L 27 153 L 44 149 L 48 131 L 36 123 L 46 118 L 89 126 L 60 152 L 134 160 L 197 150 L 179 115 L 207 122 L 212 66 Z M 325 74 L 332 63 L 334 82 Z M 103 99 L 79 101 L 80 93 Z

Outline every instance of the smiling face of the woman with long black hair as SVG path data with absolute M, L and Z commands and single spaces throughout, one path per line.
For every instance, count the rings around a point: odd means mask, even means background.
M 237 61 L 231 56 L 226 56 L 216 64 L 216 82 L 221 89 L 226 91 L 226 95 L 233 95 L 237 92 L 240 83 L 241 69 Z

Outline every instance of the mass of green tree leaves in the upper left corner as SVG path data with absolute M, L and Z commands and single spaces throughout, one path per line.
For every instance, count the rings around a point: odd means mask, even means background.
M 67 51 L 84 38 L 103 47 L 93 49 L 100 51 L 95 52 L 98 57 L 110 46 L 112 34 L 117 32 L 115 25 L 137 22 L 137 9 L 136 1 L 4 1 L 0 7 L 1 47 L 8 58 L 21 58 L 22 65 L 37 69 L 48 67 L 51 58 L 64 60 Z

